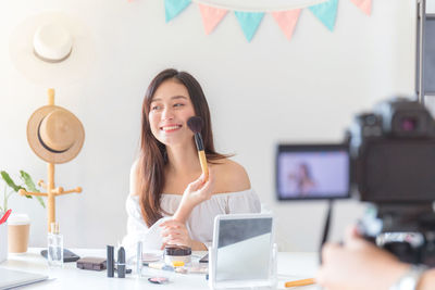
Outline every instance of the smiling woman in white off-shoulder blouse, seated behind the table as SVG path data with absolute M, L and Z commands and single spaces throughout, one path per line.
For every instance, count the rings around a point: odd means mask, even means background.
M 203 121 L 207 180 L 194 133 L 187 126 L 191 116 Z M 245 168 L 214 150 L 206 97 L 186 72 L 165 70 L 148 87 L 140 155 L 132 166 L 126 209 L 123 245 L 127 254 L 135 252 L 138 241 L 149 250 L 165 244 L 207 250 L 212 242 L 214 216 L 260 212 Z

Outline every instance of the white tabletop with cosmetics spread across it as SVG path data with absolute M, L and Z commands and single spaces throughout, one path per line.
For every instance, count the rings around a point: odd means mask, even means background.
M 41 249 L 33 248 L 22 255 L 9 255 L 8 261 L 0 264 L 0 267 L 18 269 L 25 272 L 40 273 L 49 276 L 49 280 L 23 287 L 23 289 L 62 289 L 62 290 L 84 290 L 84 289 L 209 289 L 204 275 L 199 274 L 177 274 L 166 270 L 149 269 L 144 270 L 144 277 L 137 278 L 135 273 L 126 275 L 121 279 L 108 278 L 107 272 L 84 270 L 76 267 L 76 263 L 65 263 L 63 268 L 49 268 L 47 260 L 39 252 Z M 105 249 L 74 249 L 74 253 L 79 256 L 105 257 Z M 202 256 L 204 252 L 195 252 Z M 284 289 L 284 282 L 314 277 L 319 266 L 316 253 L 278 253 L 278 289 Z M 148 281 L 152 276 L 169 277 L 171 282 L 167 285 L 153 285 Z M 313 290 L 320 289 L 318 286 L 304 286 L 291 289 Z

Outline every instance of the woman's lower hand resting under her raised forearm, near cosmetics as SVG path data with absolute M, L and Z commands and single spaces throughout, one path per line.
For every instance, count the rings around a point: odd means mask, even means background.
M 189 232 L 185 226 L 185 224 L 179 223 L 175 219 L 169 219 L 160 225 L 162 227 L 162 238 L 163 238 L 163 245 L 169 244 L 173 245 L 185 245 L 192 248 L 192 240 L 190 239 Z

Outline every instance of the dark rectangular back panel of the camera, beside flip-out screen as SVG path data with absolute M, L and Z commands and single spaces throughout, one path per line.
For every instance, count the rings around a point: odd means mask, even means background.
M 362 201 L 427 202 L 435 199 L 435 141 L 397 139 L 372 142 L 361 154 Z

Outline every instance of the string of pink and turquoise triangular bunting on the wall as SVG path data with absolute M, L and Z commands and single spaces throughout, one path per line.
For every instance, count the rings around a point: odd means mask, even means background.
M 372 0 L 350 0 L 366 15 L 371 14 Z M 334 30 L 335 20 L 337 15 L 338 0 L 318 1 L 321 3 L 301 7 L 291 10 L 276 10 L 263 12 L 238 11 L 234 8 L 214 7 L 204 0 L 164 0 L 165 20 L 166 23 L 179 15 L 191 2 L 196 2 L 201 13 L 202 23 L 206 34 L 210 35 L 217 24 L 225 17 L 228 11 L 233 11 L 236 15 L 241 30 L 248 41 L 251 41 L 265 13 L 272 14 L 273 18 L 283 30 L 288 40 L 291 39 L 296 24 L 298 22 L 302 9 L 308 8 L 323 25 L 331 31 Z

